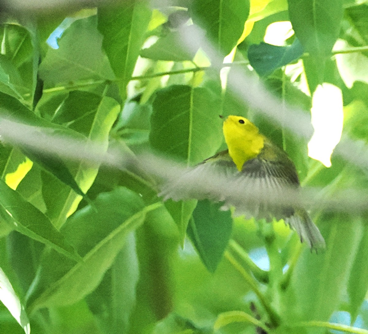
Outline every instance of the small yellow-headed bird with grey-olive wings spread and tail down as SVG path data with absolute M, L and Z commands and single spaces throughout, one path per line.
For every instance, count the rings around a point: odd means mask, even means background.
M 262 201 L 262 197 L 256 195 L 252 201 L 244 201 L 239 196 L 201 192 L 198 187 L 195 189 L 195 185 L 191 184 L 192 176 L 201 177 L 201 174 L 205 176 L 209 173 L 224 176 L 229 185 L 237 185 L 239 189 L 247 192 L 256 189 L 282 196 L 283 188 L 297 189 L 300 186 L 294 163 L 286 152 L 259 133 L 258 128 L 247 118 L 227 117 L 223 123 L 223 133 L 228 150 L 215 154 L 190 170 L 177 182 L 177 186 L 181 184 L 181 189 L 164 187 L 161 194 L 166 199 L 174 200 L 209 198 L 224 201 L 225 208 L 235 206 L 236 214 L 244 214 L 247 218 L 266 219 L 269 222 L 272 222 L 273 218 L 284 219 L 309 247 L 324 248 L 325 240 L 303 208 L 276 205 Z

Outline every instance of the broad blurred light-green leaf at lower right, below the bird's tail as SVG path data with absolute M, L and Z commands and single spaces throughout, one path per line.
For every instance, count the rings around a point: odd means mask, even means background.
M 317 223 L 327 247 L 320 254 L 305 249 L 299 258 L 287 299 L 294 307 L 286 314 L 286 321 L 328 321 L 339 308 L 347 288 L 362 236 L 361 221 L 344 213 L 330 213 L 324 214 Z

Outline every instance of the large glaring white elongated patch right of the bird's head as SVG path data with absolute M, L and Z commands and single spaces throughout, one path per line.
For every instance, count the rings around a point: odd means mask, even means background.
M 312 97 L 314 134 L 308 143 L 308 156 L 331 166 L 331 154 L 343 130 L 343 97 L 340 88 L 323 83 Z

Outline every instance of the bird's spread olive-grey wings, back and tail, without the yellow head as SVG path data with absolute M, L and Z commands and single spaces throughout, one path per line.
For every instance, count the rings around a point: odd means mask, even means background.
M 210 187 L 206 187 L 210 184 Z M 298 189 L 299 180 L 294 164 L 287 154 L 265 141 L 262 151 L 244 163 L 241 171 L 227 150 L 217 153 L 181 175 L 170 184 L 164 184 L 164 199 L 212 199 L 223 201 L 224 209 L 234 206 L 235 215 L 247 218 L 284 219 L 311 248 L 323 248 L 325 241 L 307 211 L 288 203 L 278 204 L 272 198 L 282 198 L 285 189 Z

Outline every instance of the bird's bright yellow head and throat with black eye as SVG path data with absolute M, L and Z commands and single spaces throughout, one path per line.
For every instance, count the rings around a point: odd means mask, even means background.
M 230 157 L 241 171 L 245 161 L 255 158 L 261 152 L 265 138 L 251 121 L 241 116 L 226 118 L 222 129 Z

